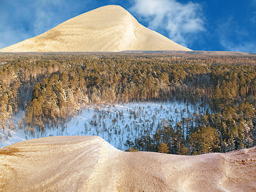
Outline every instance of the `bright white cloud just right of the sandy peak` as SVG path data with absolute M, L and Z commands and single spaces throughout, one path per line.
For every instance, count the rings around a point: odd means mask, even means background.
M 205 31 L 202 6 L 175 0 L 134 0 L 131 12 L 148 22 L 148 28 L 166 31 L 173 41 L 188 45 L 191 35 Z

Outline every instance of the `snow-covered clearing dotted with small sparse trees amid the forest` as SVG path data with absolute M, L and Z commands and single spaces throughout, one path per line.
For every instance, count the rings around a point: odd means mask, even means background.
M 163 119 L 173 126 L 182 118 L 193 113 L 205 113 L 204 108 L 185 104 L 184 102 L 139 102 L 129 104 L 106 105 L 86 108 L 74 116 L 65 126 L 51 127 L 44 132 L 35 130 L 34 134 L 17 128 L 22 111 L 12 119 L 15 126 L 12 130 L 0 131 L 0 147 L 18 141 L 42 138 L 47 136 L 97 135 L 114 147 L 125 150 L 124 143 L 147 134 L 154 134 Z

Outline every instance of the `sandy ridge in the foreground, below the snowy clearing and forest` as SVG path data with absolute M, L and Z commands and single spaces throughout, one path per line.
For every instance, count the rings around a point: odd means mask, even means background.
M 256 147 L 177 156 L 122 152 L 97 136 L 0 149 L 0 191 L 256 191 Z

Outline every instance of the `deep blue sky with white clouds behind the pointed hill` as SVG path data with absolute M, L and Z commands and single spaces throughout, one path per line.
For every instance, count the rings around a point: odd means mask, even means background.
M 256 52 L 256 0 L 0 0 L 0 49 L 108 4 L 196 51 Z

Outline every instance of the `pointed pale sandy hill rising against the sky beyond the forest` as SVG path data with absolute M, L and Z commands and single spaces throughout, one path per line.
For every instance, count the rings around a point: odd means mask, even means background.
M 97 8 L 35 36 L 1 49 L 2 52 L 86 52 L 125 50 L 190 49 L 145 28 L 124 8 L 109 5 Z

